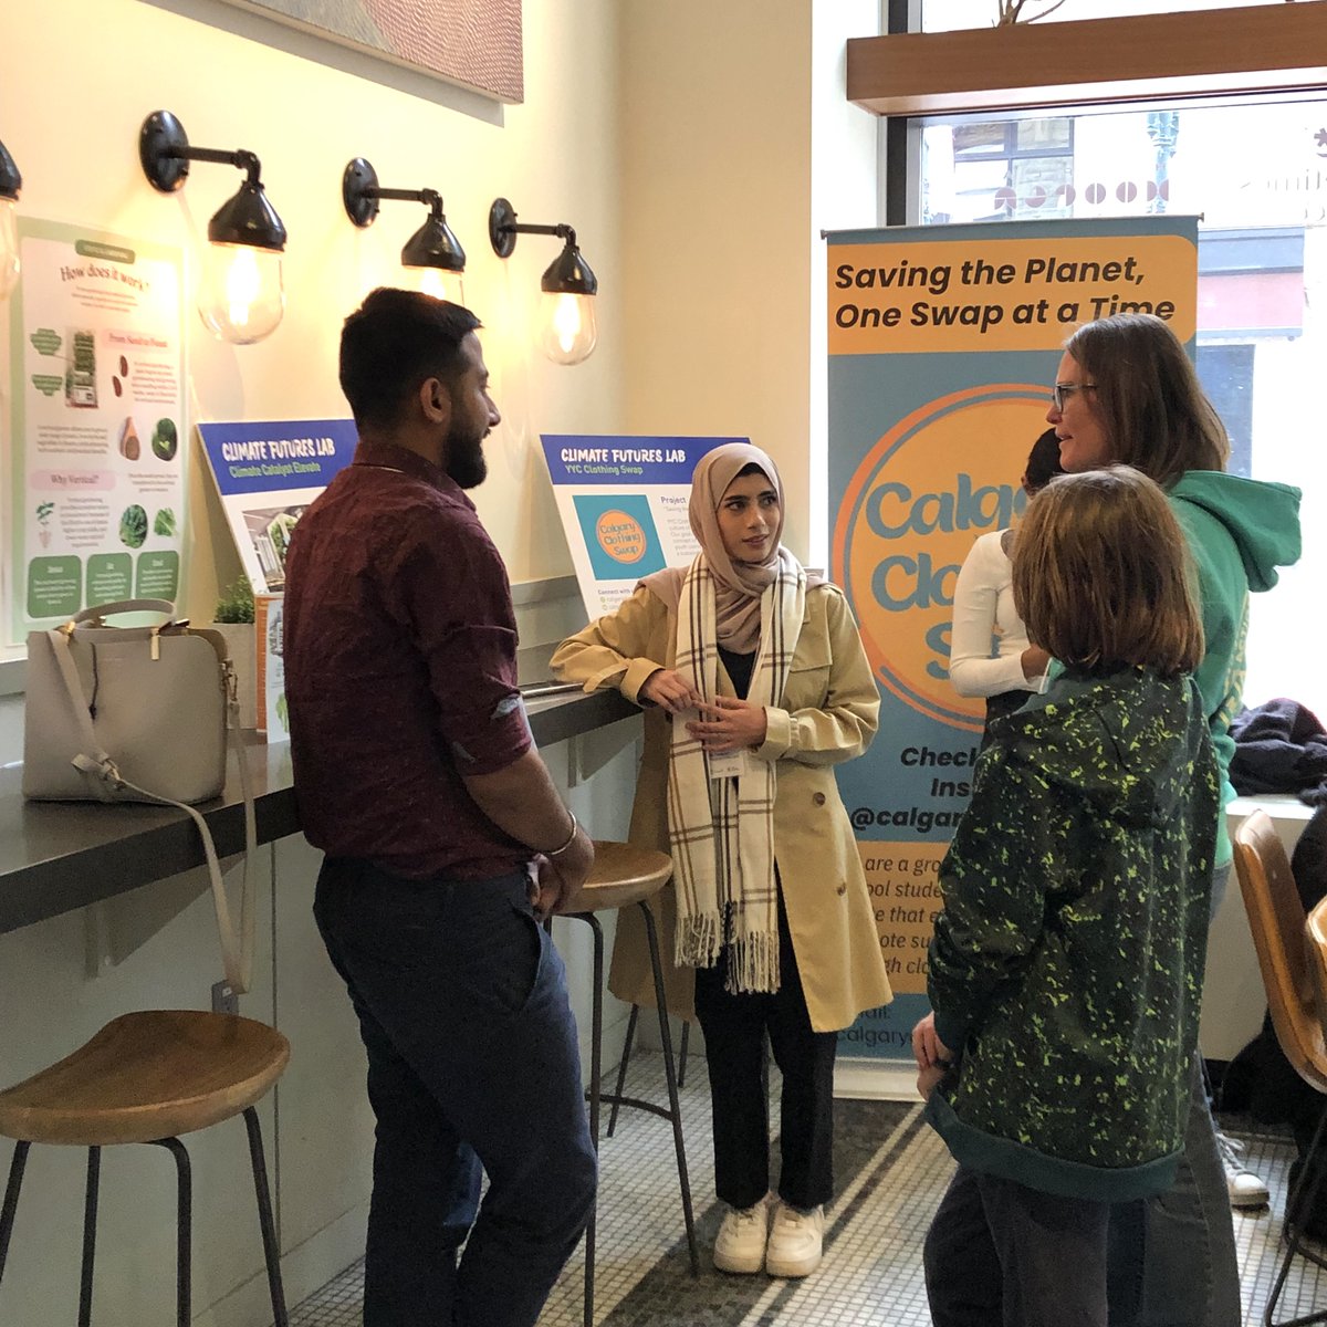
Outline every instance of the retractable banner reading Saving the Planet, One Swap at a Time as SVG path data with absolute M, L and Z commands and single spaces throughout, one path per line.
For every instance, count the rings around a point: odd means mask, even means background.
M 937 868 L 971 788 L 985 703 L 949 682 L 958 569 L 1016 520 L 1066 338 L 1121 312 L 1196 334 L 1197 219 L 1002 223 L 828 236 L 833 579 L 881 694 L 840 787 L 896 999 L 844 1055 L 912 1062 Z

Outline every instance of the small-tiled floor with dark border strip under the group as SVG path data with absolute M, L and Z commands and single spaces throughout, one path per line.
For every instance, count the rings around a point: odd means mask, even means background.
M 836 1139 L 839 1197 L 827 1213 L 825 1259 L 805 1281 L 726 1277 L 710 1267 L 718 1225 L 709 1144 L 705 1067 L 693 1062 L 682 1092 L 702 1275 L 687 1267 L 670 1127 L 624 1111 L 617 1136 L 601 1145 L 594 1322 L 602 1327 L 928 1327 L 921 1241 L 949 1177 L 950 1161 L 917 1107 L 840 1103 Z M 640 1054 L 628 1091 L 664 1099 L 657 1055 Z M 1271 1208 L 1235 1216 L 1245 1323 L 1262 1320 L 1281 1255 L 1281 1213 L 1294 1148 L 1289 1139 L 1227 1132 L 1247 1144 L 1250 1169 L 1271 1189 Z M 350 1267 L 292 1312 L 292 1327 L 360 1327 L 362 1267 Z M 540 1327 L 580 1327 L 584 1262 L 572 1259 Z M 1282 1318 L 1327 1307 L 1327 1273 L 1295 1259 Z

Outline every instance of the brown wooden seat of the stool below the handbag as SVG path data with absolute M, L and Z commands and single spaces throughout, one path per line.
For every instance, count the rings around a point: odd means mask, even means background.
M 289 1058 L 291 1043 L 251 1018 L 123 1014 L 72 1055 L 0 1092 L 0 1133 L 85 1148 L 194 1133 L 261 1100 Z

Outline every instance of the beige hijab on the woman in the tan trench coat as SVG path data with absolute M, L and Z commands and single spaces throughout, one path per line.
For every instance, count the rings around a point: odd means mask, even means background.
M 747 467 L 759 466 L 764 476 L 774 484 L 779 495 L 779 524 L 774 532 L 770 556 L 763 563 L 734 563 L 723 547 L 719 532 L 719 503 L 729 484 Z M 697 463 L 691 475 L 691 499 L 687 507 L 691 519 L 691 532 L 701 544 L 715 580 L 715 629 L 718 642 L 735 654 L 751 654 L 760 642 L 760 596 L 779 575 L 780 564 L 796 559 L 780 543 L 783 537 L 783 480 L 770 456 L 748 442 L 726 442 L 707 451 Z M 682 594 L 685 567 L 669 567 L 653 576 L 646 576 L 641 584 L 664 600 L 671 613 L 677 613 Z M 821 584 L 819 577 L 808 576 L 807 585 Z

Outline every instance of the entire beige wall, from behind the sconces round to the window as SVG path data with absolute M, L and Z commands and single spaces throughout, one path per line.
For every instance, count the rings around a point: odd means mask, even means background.
M 0 138 L 24 173 L 23 210 L 175 243 L 192 261 L 239 174 L 195 166 L 182 194 L 157 194 L 137 162 L 139 123 L 166 107 L 196 145 L 253 150 L 291 236 L 287 314 L 267 341 L 236 348 L 190 313 L 192 415 L 337 415 L 341 320 L 399 280 L 399 247 L 423 216 L 389 203 L 369 231 L 350 226 L 341 171 L 368 157 L 385 184 L 438 188 L 466 247 L 466 299 L 487 325 L 504 414 L 475 498 L 514 581 L 571 571 L 540 431 L 750 435 L 786 471 L 790 544 L 820 560 L 819 231 L 876 219 L 874 121 L 843 94 L 843 40 L 871 31 L 876 0 L 524 9 L 525 101 L 503 107 L 220 0 L 0 5 Z M 584 365 L 533 349 L 556 242 L 523 238 L 496 259 L 498 194 L 527 220 L 576 227 L 601 291 Z M 206 620 L 239 563 L 194 470 L 184 609 Z

